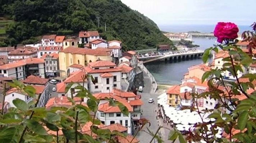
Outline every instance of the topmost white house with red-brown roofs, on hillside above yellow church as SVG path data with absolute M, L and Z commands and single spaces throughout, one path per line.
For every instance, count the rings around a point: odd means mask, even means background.
M 100 34 L 98 33 L 98 31 L 79 32 L 79 44 L 86 44 L 95 39 L 100 39 Z

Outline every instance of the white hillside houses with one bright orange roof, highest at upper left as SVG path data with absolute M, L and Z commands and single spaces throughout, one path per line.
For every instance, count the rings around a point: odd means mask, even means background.
M 44 35 L 42 38 L 42 46 L 63 46 L 65 36 Z

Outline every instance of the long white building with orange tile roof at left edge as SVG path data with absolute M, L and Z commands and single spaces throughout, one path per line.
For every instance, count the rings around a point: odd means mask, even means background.
M 0 74 L 3 77 L 13 77 L 17 80 L 26 79 L 29 75 L 45 78 L 45 61 L 44 59 L 28 58 L 0 65 Z

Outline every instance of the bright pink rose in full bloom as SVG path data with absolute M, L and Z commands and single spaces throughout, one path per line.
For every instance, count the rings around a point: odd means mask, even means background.
M 219 22 L 214 29 L 214 36 L 217 37 L 217 41 L 222 43 L 224 39 L 236 39 L 238 38 L 239 29 L 234 23 Z

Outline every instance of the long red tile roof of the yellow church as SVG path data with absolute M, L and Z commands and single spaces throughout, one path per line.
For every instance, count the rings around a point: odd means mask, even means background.
M 88 55 L 110 55 L 110 52 L 106 48 L 96 48 L 96 49 L 84 49 L 77 48 L 74 46 L 69 46 L 63 49 L 61 52 L 71 53 L 71 54 L 88 54 Z

